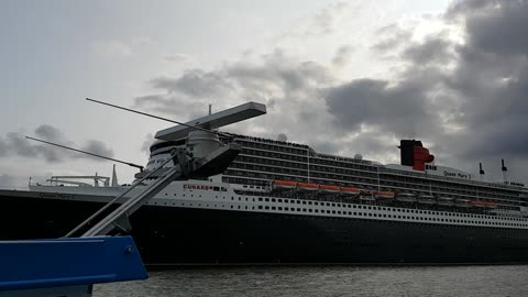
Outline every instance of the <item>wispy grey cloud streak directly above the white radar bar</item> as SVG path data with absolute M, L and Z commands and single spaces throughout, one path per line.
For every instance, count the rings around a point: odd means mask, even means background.
M 226 109 L 245 101 L 273 105 L 297 100 L 333 80 L 330 70 L 310 61 L 298 61 L 276 50 L 257 61 L 224 64 L 213 70 L 190 69 L 179 77 L 151 80 L 160 94 L 135 98 L 136 107 L 191 119 L 207 114 L 207 107 Z M 311 97 L 310 95 L 310 97 Z

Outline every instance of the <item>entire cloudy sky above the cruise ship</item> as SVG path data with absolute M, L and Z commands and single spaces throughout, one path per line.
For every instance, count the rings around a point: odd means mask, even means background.
M 248 101 L 223 130 L 399 163 L 419 139 L 438 165 L 528 182 L 528 1 L 0 1 L 0 187 L 146 164 L 170 123 Z M 134 168 L 118 165 L 121 183 Z M 515 177 L 515 178 L 514 178 Z

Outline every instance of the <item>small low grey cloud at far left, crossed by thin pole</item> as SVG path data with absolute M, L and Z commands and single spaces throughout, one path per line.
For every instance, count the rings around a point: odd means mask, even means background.
M 48 124 L 42 124 L 34 131 L 35 135 L 44 141 L 76 147 L 75 143 L 68 141 L 64 133 Z M 105 143 L 96 140 L 89 140 L 80 150 L 112 157 L 113 151 L 108 148 Z M 0 138 L 0 157 L 19 156 L 26 158 L 43 157 L 50 163 L 64 162 L 67 158 L 86 157 L 77 153 L 72 153 L 64 148 L 54 147 L 47 144 L 41 144 L 30 141 L 21 133 L 9 132 L 6 138 Z M 101 158 L 94 158 L 101 161 Z

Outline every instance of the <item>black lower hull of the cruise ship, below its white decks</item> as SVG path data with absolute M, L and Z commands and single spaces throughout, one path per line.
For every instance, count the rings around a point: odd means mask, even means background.
M 0 240 L 63 237 L 102 204 L 0 196 Z M 528 231 L 144 206 L 132 235 L 147 264 L 528 263 Z

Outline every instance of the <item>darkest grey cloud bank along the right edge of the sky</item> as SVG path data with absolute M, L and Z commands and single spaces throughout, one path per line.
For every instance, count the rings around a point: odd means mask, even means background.
M 465 155 L 528 160 L 528 1 L 457 2 L 447 18 L 465 21 L 451 87 L 464 97 L 472 131 Z

